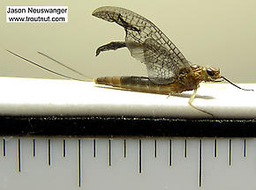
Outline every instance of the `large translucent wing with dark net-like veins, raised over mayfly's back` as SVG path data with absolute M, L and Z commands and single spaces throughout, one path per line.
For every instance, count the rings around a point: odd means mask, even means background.
M 120 7 L 105 6 L 93 15 L 124 27 L 125 43 L 131 55 L 147 65 L 154 84 L 169 84 L 180 70 L 190 71 L 190 64 L 178 48 L 147 18 Z

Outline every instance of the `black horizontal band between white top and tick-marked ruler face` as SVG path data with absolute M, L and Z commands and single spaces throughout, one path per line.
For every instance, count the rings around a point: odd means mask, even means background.
M 256 137 L 255 120 L 0 116 L 0 135 Z

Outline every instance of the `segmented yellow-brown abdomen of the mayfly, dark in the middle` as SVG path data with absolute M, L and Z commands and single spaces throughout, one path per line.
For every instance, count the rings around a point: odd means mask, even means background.
M 160 94 L 169 94 L 171 92 L 169 84 L 154 84 L 148 77 L 98 77 L 94 79 L 94 82 L 95 84 L 110 85 L 132 91 Z

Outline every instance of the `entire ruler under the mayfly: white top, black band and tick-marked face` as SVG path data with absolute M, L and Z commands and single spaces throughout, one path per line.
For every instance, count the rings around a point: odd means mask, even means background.
M 0 189 L 252 189 L 254 91 L 180 96 L 1 77 Z M 241 84 L 256 89 L 255 84 Z

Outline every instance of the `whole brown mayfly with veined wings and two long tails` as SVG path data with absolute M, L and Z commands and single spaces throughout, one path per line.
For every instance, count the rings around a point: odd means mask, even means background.
M 131 91 L 168 95 L 182 93 L 183 91 L 193 91 L 189 100 L 190 106 L 192 106 L 192 100 L 195 98 L 201 82 L 216 82 L 218 79 L 221 79 L 233 84 L 226 77 L 220 75 L 219 69 L 202 67 L 195 64 L 192 65 L 157 26 L 147 18 L 133 11 L 120 7 L 104 6 L 94 10 L 92 14 L 94 17 L 117 23 L 117 25 L 124 27 L 125 31 L 124 41 L 112 41 L 109 44 L 97 48 L 96 56 L 100 55 L 103 51 L 128 48 L 132 57 L 146 64 L 148 74 L 148 77 L 98 77 L 94 79 L 95 84 L 111 85 Z M 46 69 L 62 77 L 67 77 L 53 70 L 44 68 L 11 51 L 9 52 L 42 69 Z M 40 54 L 44 55 L 42 53 Z M 44 56 L 57 62 L 48 55 Z M 57 63 L 67 69 L 71 69 L 61 62 Z M 72 70 L 82 75 L 78 71 Z M 83 77 L 85 76 L 83 75 Z M 76 79 L 73 77 L 67 78 Z M 252 89 L 241 88 L 236 84 L 233 85 L 244 91 L 253 91 Z M 192 107 L 200 110 L 195 106 Z M 207 113 L 203 110 L 200 111 Z

